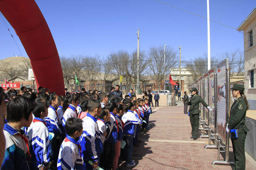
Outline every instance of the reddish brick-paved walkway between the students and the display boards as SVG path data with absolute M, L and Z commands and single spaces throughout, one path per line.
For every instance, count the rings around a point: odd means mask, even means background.
M 213 161 L 218 160 L 218 150 L 204 149 L 208 138 L 198 138 L 196 141 L 190 139 L 189 117 L 183 114 L 183 103 L 177 103 L 177 106 L 152 107 L 154 112 L 149 117 L 151 129 L 139 134 L 140 146 L 133 147 L 132 158 L 136 166 L 126 167 L 121 162 L 121 169 L 232 169 L 229 165 L 212 165 Z M 234 160 L 231 152 L 230 161 Z M 246 169 L 255 168 L 256 161 L 246 153 Z

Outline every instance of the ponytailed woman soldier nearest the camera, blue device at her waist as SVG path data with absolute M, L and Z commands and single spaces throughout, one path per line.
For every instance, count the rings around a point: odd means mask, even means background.
M 236 100 L 230 108 L 226 131 L 230 132 L 230 129 L 237 129 L 238 137 L 231 137 L 233 153 L 235 155 L 234 170 L 242 170 L 245 169 L 244 143 L 247 131 L 249 131 L 245 125 L 245 115 L 249 106 L 244 95 L 244 85 L 234 84 L 231 89 L 232 96 L 235 97 Z

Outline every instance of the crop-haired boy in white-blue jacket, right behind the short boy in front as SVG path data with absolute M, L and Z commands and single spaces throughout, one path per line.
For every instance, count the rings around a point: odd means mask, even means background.
M 100 136 L 99 128 L 96 124 L 96 116 L 101 113 L 101 105 L 99 100 L 91 99 L 88 101 L 87 108 L 89 113 L 82 119 L 83 120 L 83 134 L 80 137 L 82 147 L 82 158 L 84 161 L 84 169 L 92 170 L 98 167 L 98 155 L 96 149 L 95 139 Z M 92 166 L 88 161 L 92 161 Z

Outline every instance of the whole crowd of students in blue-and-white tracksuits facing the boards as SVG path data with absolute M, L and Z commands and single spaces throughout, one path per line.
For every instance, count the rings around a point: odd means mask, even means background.
M 0 87 L 6 141 L 1 169 L 116 170 L 120 152 L 126 166 L 135 165 L 132 149 L 140 143 L 138 133 L 149 129 L 147 97 L 123 99 L 119 85 L 112 94 L 82 89 L 57 96 L 43 89 L 4 93 Z

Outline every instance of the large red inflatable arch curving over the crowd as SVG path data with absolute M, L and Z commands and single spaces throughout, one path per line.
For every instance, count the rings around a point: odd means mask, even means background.
M 0 11 L 20 38 L 34 71 L 37 87 L 64 95 L 60 57 L 52 33 L 34 0 L 0 0 Z

